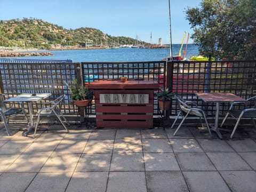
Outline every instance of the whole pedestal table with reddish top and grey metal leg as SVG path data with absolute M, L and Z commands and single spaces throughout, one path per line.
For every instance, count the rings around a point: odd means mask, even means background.
M 220 133 L 220 128 L 218 127 L 219 121 L 219 110 L 220 110 L 220 102 L 245 102 L 246 100 L 238 97 L 233 93 L 195 93 L 198 98 L 202 99 L 204 102 L 215 102 L 216 103 L 216 111 L 215 111 L 215 123 L 212 131 L 215 131 L 219 138 L 222 139 L 222 135 Z

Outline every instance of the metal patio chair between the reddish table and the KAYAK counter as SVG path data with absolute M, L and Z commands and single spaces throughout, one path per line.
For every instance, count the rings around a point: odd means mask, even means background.
M 182 120 L 181 120 L 179 126 L 177 127 L 177 129 L 175 130 L 175 132 L 173 133 L 173 135 L 175 135 L 179 131 L 180 127 L 182 126 L 182 124 L 184 123 L 185 119 L 188 116 L 198 117 L 200 119 L 201 123 L 202 123 L 202 118 L 203 118 L 210 135 L 212 135 L 204 111 L 201 108 L 193 107 L 193 103 L 195 103 L 193 101 L 185 101 L 182 98 L 178 97 L 177 95 L 174 95 L 174 97 L 178 101 L 178 107 L 179 107 L 180 111 L 179 111 L 178 116 L 175 118 L 171 128 L 173 128 L 173 126 L 176 123 L 179 116 L 182 117 Z M 202 123 L 202 125 L 203 125 L 203 123 Z

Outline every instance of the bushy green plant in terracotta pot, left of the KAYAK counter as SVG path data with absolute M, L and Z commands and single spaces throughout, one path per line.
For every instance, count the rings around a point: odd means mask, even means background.
M 78 85 L 76 79 L 71 82 L 69 87 L 71 99 L 77 107 L 86 107 L 92 102 L 93 92 L 83 85 Z

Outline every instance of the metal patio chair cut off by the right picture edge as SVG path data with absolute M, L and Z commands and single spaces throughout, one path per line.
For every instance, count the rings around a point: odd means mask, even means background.
M 245 102 L 232 102 L 228 109 L 226 116 L 224 117 L 224 119 L 220 125 L 220 127 L 223 126 L 223 124 L 226 122 L 229 115 L 237 120 L 236 124 L 233 128 L 233 131 L 230 135 L 230 138 L 233 138 L 235 131 L 238 127 L 238 124 L 242 118 L 252 119 L 252 123 L 256 129 L 256 123 L 255 123 L 255 119 L 254 119 L 254 118 L 256 118 L 256 96 L 247 99 L 247 102 L 251 102 L 252 104 L 254 104 L 254 106 L 252 108 L 248 108 Z M 242 110 L 236 109 L 236 106 L 241 105 L 241 104 L 243 104 L 243 109 Z

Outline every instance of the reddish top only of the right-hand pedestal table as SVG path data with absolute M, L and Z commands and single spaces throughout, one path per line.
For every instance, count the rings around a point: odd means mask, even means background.
M 233 102 L 233 101 L 246 101 L 233 93 L 195 93 L 198 98 L 204 102 Z

